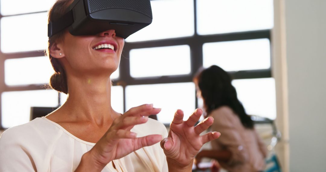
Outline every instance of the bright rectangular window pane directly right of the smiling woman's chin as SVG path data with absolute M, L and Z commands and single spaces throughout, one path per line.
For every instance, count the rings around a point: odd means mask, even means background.
M 155 77 L 189 73 L 190 48 L 188 45 L 133 49 L 130 51 L 131 77 Z

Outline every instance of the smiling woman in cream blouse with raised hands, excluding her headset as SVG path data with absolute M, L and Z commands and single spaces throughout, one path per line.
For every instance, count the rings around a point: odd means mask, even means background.
M 71 2 L 58 0 L 49 21 L 65 14 Z M 50 84 L 67 93 L 67 101 L 46 117 L 3 133 L 0 171 L 191 171 L 201 146 L 219 137 L 218 132 L 199 135 L 213 123 L 207 118 L 194 127 L 201 109 L 187 121 L 177 110 L 168 134 L 163 124 L 148 119 L 160 112 L 153 105 L 123 115 L 111 108 L 110 76 L 124 46 L 114 30 L 73 36 L 66 29 L 48 43 L 56 72 Z M 102 44 L 108 48 L 95 48 Z

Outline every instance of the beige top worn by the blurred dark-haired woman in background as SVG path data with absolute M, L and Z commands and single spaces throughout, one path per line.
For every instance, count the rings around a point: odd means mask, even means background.
M 221 136 L 211 141 L 214 150 L 229 150 L 232 153 L 228 162 L 219 162 L 230 172 L 263 171 L 267 149 L 253 129 L 244 128 L 239 117 L 230 107 L 215 109 L 210 116 L 214 118 L 211 127 Z

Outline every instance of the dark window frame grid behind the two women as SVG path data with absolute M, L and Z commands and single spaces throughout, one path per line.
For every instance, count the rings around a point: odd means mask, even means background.
M 125 90 L 127 85 L 141 85 L 141 84 L 158 84 L 158 83 L 180 83 L 180 82 L 191 82 L 196 71 L 203 64 L 202 56 L 202 45 L 209 42 L 222 42 L 222 41 L 233 41 L 233 40 L 246 40 L 246 39 L 259 39 L 268 38 L 270 40 L 270 30 L 260 31 L 248 31 L 239 33 L 227 33 L 227 34 L 215 34 L 215 35 L 198 35 L 197 34 L 197 19 L 196 19 L 196 0 L 194 0 L 194 36 L 182 37 L 182 38 L 171 38 L 163 40 L 151 40 L 144 42 L 126 42 L 125 47 L 121 56 L 120 62 L 120 74 L 119 78 L 113 81 L 113 85 L 123 86 L 124 96 L 124 111 L 126 111 L 126 95 Z M 46 12 L 46 11 L 41 11 Z M 40 12 L 33 12 L 40 13 Z M 26 14 L 33 14 L 26 13 Z M 16 14 L 22 15 L 22 14 Z M 11 16 L 16 16 L 11 15 Z M 0 20 L 2 16 L 0 15 Z M 0 37 L 1 40 L 1 37 Z M 191 58 L 191 72 L 187 75 L 175 75 L 175 76 L 162 76 L 162 77 L 148 77 L 148 78 L 132 78 L 130 76 L 130 62 L 129 52 L 132 49 L 139 48 L 151 48 L 151 47 L 164 47 L 174 45 L 189 45 L 190 46 L 190 58 Z M 1 43 L 0 43 L 1 46 Z M 40 90 L 46 89 L 45 84 L 33 84 L 28 86 L 7 86 L 5 84 L 5 60 L 13 58 L 25 58 L 25 57 L 38 57 L 43 56 L 44 51 L 29 51 L 29 52 L 17 52 L 17 53 L 2 53 L 0 51 L 0 94 L 8 91 L 27 91 L 27 90 Z M 272 58 L 271 58 L 272 62 Z M 272 63 L 271 63 L 272 65 Z M 249 78 L 270 78 L 271 68 L 263 70 L 245 70 L 245 71 L 234 71 L 229 72 L 233 79 L 249 79 Z M 59 94 L 58 94 L 59 96 Z M 195 106 L 197 107 L 197 97 L 195 99 Z M 1 124 L 1 99 L 0 99 L 0 124 Z M 58 98 L 58 105 L 60 104 L 60 98 Z M 4 129 L 2 125 L 0 129 Z

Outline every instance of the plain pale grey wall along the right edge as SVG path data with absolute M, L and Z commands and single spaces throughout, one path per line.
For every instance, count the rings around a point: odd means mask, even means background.
M 289 171 L 326 171 L 326 0 L 285 0 Z

